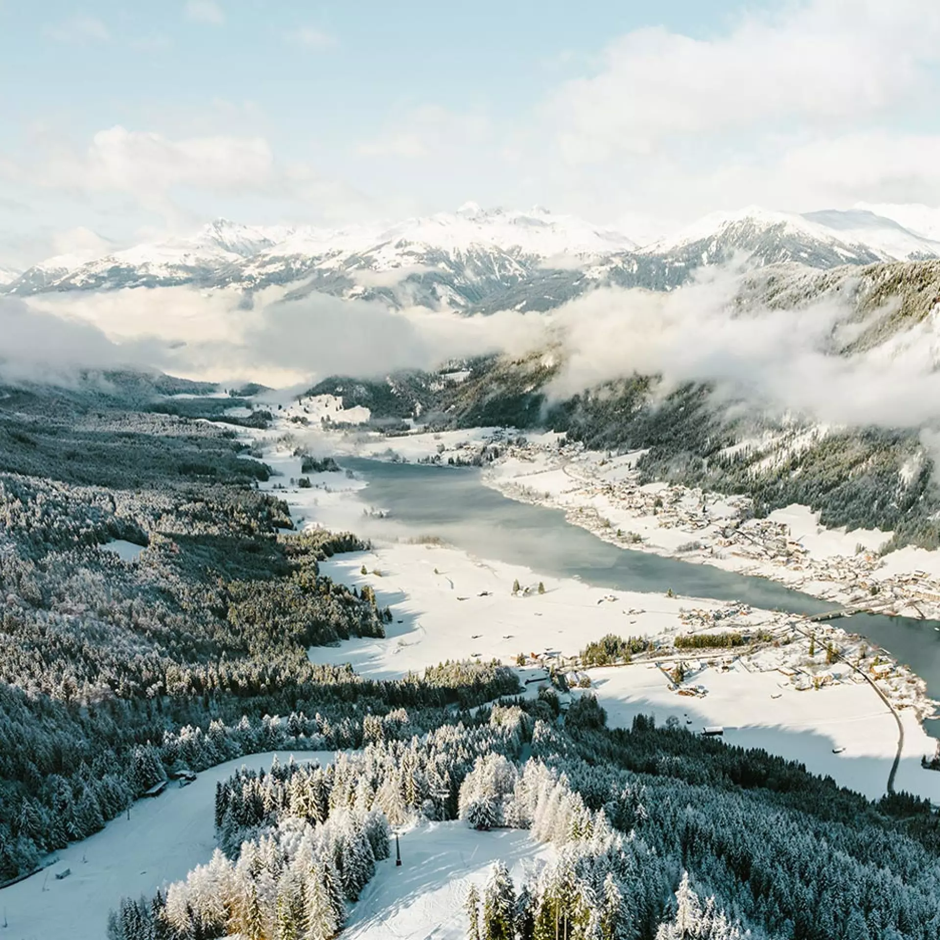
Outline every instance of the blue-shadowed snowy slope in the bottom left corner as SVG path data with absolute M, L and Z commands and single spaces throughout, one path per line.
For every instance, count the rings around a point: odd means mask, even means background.
M 203 771 L 188 787 L 170 782 L 155 799 L 138 800 L 100 833 L 55 853 L 55 865 L 0 890 L 4 940 L 102 940 L 109 910 L 121 898 L 152 897 L 184 878 L 215 848 L 215 784 L 242 766 L 270 769 L 274 753 L 254 754 Z M 333 760 L 332 751 L 298 751 L 294 759 Z M 70 870 L 58 880 L 56 874 Z M 2 921 L 0 921 L 2 922 Z

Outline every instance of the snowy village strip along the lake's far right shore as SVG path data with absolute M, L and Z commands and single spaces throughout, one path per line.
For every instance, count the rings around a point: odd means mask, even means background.
M 834 607 L 940 619 L 940 562 L 917 567 L 918 556 L 932 553 L 884 556 L 890 532 L 825 530 L 804 507 L 759 519 L 747 496 L 643 484 L 639 456 L 538 439 L 503 444 L 485 480 L 512 498 L 563 509 L 573 525 L 623 548 L 771 578 Z

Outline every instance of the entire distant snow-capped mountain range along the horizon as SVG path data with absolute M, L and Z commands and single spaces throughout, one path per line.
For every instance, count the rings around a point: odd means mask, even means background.
M 194 235 L 0 274 L 0 292 L 193 285 L 286 286 L 464 312 L 547 309 L 599 283 L 669 290 L 698 268 L 749 260 L 815 269 L 940 258 L 940 242 L 872 211 L 717 213 L 639 246 L 618 231 L 543 209 L 455 212 L 393 226 L 251 227 L 219 219 Z

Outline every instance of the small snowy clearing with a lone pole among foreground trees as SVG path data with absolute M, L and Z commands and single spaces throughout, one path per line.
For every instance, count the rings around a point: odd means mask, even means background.
M 401 836 L 401 867 L 392 857 L 352 906 L 342 935 L 348 940 L 462 940 L 464 900 L 471 884 L 482 888 L 490 865 L 503 861 L 513 879 L 538 868 L 554 849 L 525 830 L 478 832 L 466 823 L 422 823 Z

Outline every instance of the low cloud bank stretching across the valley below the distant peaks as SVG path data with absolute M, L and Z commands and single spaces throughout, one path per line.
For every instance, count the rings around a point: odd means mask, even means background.
M 0 305 L 5 376 L 71 366 L 136 365 L 216 381 L 295 384 L 328 374 L 435 368 L 487 352 L 558 343 L 558 399 L 634 372 L 666 387 L 713 382 L 729 399 L 838 424 L 917 427 L 940 417 L 940 331 L 932 318 L 904 339 L 844 357 L 834 338 L 857 328 L 844 301 L 796 310 L 734 304 L 740 276 L 713 274 L 661 293 L 603 288 L 550 314 L 464 317 L 323 294 L 184 288 L 40 295 Z

